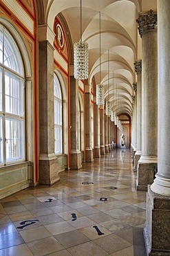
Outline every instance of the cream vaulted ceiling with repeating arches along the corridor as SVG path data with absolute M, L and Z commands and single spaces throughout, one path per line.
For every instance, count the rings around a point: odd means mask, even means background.
M 138 12 L 156 10 L 156 1 L 38 0 L 38 3 L 43 5 L 43 22 L 50 28 L 56 15 L 63 15 L 72 45 L 81 37 L 82 3 L 82 39 L 89 44 L 89 84 L 93 77 L 96 84 L 105 84 L 105 98 L 111 102 L 111 108 L 117 115 L 131 116 L 136 82 L 134 62 L 142 57 L 136 19 Z

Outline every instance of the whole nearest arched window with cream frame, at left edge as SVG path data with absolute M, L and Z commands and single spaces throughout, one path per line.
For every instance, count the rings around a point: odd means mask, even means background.
M 24 70 L 19 48 L 0 24 L 0 165 L 25 160 Z

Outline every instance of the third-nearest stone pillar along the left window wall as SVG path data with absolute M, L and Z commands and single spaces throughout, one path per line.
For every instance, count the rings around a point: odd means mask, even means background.
M 85 161 L 93 162 L 93 149 L 92 149 L 92 95 L 89 91 L 89 84 L 85 84 Z

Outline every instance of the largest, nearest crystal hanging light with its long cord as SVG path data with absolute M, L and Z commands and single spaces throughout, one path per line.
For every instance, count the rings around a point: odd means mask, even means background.
M 82 14 L 81 14 L 81 39 L 79 42 L 76 42 L 74 44 L 74 78 L 77 80 L 85 80 L 88 78 L 88 74 L 89 74 L 88 44 L 87 42 L 82 42 Z

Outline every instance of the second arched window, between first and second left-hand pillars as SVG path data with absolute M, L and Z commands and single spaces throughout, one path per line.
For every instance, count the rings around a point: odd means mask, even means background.
M 55 153 L 63 153 L 62 145 L 62 96 L 61 85 L 58 77 L 54 73 L 54 141 Z

